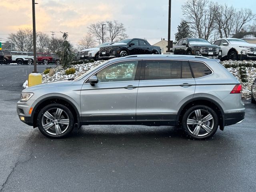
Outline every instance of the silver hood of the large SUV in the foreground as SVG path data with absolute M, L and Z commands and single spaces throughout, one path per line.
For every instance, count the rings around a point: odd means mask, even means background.
M 43 84 L 28 87 L 28 88 L 22 90 L 22 92 L 29 93 L 29 92 L 33 92 L 34 90 L 38 90 L 38 89 L 70 86 L 72 83 L 73 83 L 73 81 L 69 81 L 69 80 L 54 81 L 54 82 L 43 83 Z

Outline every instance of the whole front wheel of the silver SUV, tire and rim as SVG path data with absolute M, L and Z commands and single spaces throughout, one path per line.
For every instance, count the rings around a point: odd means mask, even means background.
M 38 128 L 49 138 L 63 138 L 68 136 L 74 128 L 74 116 L 62 104 L 49 104 L 38 114 Z

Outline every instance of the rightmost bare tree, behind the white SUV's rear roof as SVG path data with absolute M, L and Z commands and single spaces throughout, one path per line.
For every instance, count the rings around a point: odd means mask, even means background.
M 236 12 L 234 16 L 234 29 L 233 33 L 236 34 L 241 31 L 242 28 L 245 28 L 246 24 L 256 18 L 256 14 L 252 12 L 251 9 L 241 8 L 238 12 Z

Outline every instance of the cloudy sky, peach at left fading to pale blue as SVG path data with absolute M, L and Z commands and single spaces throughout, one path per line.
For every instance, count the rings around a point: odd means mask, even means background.
M 250 8 L 256 13 L 255 0 L 215 0 L 236 8 Z M 19 28 L 32 28 L 32 0 L 0 0 L 0 38 L 7 39 Z M 76 45 L 95 22 L 118 20 L 129 37 L 146 38 L 151 44 L 168 34 L 168 0 L 36 0 L 36 30 L 56 36 L 69 32 Z M 181 5 L 186 0 L 172 0 L 171 38 L 183 18 Z M 73 33 L 73 34 L 72 34 Z M 4 41 L 2 39 L 2 42 Z

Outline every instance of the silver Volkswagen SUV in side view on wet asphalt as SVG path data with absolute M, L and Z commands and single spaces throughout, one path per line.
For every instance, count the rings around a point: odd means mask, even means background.
M 74 126 L 182 126 L 195 139 L 244 119 L 242 86 L 219 60 L 138 55 L 108 60 L 74 80 L 40 84 L 20 95 L 20 120 L 62 138 Z

